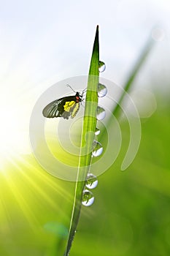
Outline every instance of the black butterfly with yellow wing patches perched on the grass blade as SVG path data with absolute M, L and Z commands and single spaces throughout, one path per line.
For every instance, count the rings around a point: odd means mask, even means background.
M 69 87 L 72 89 L 71 86 Z M 74 90 L 72 89 L 72 91 Z M 50 102 L 42 110 L 43 116 L 47 118 L 63 117 L 64 119 L 69 119 L 71 116 L 71 118 L 74 118 L 80 109 L 80 102 L 83 100 L 82 96 L 85 90 L 82 91 L 82 94 L 78 91 L 74 92 L 76 93 L 75 95 L 55 99 L 53 102 Z

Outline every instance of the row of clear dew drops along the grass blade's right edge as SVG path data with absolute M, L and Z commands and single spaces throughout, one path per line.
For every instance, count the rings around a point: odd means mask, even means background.
M 98 71 L 104 72 L 106 69 L 106 65 L 103 61 L 99 61 L 98 65 Z M 104 97 L 107 94 L 107 87 L 104 86 L 101 83 L 98 83 L 98 97 Z M 96 118 L 97 120 L 103 120 L 106 116 L 106 111 L 104 108 L 97 107 L 96 111 Z M 97 135 L 100 134 L 100 130 L 96 127 L 96 138 Z M 97 140 L 93 141 L 93 151 L 92 151 L 92 157 L 99 157 L 103 152 L 103 147 L 101 143 L 99 143 Z M 85 181 L 85 189 L 82 192 L 82 205 L 83 206 L 91 206 L 94 202 L 94 196 L 93 192 L 91 192 L 89 189 L 94 189 L 98 185 L 98 180 L 96 176 L 93 175 L 93 173 L 88 173 L 88 176 Z

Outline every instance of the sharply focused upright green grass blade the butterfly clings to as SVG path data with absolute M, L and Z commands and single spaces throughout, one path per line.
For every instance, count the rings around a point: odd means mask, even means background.
M 75 186 L 74 205 L 72 209 L 72 219 L 69 228 L 69 238 L 64 256 L 69 255 L 72 246 L 74 234 L 80 217 L 82 206 L 82 192 L 85 187 L 85 178 L 91 162 L 91 148 L 96 130 L 96 106 L 98 103 L 97 86 L 98 86 L 98 63 L 99 63 L 99 43 L 98 43 L 98 26 L 96 28 L 96 37 L 93 44 L 93 53 L 90 61 L 90 70 L 88 76 L 88 88 L 85 99 L 85 115 L 82 127 L 82 140 L 80 149 L 80 161 L 77 172 L 77 181 Z M 94 104 L 93 104 L 94 103 Z

